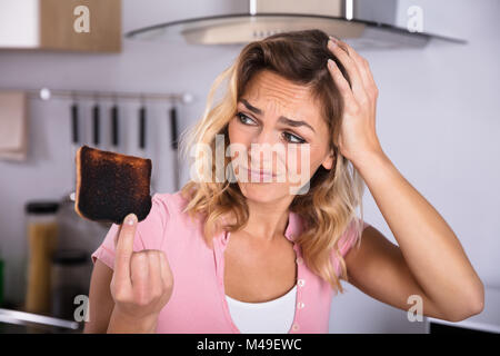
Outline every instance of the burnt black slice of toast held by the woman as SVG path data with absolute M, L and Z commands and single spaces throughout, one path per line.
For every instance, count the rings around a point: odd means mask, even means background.
M 94 221 L 122 224 L 151 210 L 151 160 L 83 146 L 80 149 L 78 210 Z

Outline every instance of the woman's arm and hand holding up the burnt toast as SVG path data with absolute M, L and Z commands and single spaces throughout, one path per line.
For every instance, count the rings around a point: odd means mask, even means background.
M 116 231 L 112 269 L 96 260 L 84 333 L 156 333 L 173 275 L 164 251 L 133 250 L 137 226 L 137 216 L 129 214 Z

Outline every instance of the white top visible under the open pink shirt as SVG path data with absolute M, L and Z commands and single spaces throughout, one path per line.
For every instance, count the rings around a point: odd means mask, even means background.
M 226 296 L 232 322 L 242 334 L 287 334 L 296 314 L 297 284 L 286 295 L 264 303 Z

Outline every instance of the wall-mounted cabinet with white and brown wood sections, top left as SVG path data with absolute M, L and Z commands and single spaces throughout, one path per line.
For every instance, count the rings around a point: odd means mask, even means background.
M 0 50 L 121 51 L 121 0 L 0 0 Z

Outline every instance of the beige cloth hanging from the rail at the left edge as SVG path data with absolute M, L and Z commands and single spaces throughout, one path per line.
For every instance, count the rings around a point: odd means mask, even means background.
M 0 91 L 0 159 L 22 161 L 28 154 L 28 96 Z

